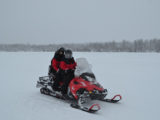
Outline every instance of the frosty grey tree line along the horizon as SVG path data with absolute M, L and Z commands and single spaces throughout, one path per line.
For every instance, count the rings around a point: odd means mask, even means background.
M 120 42 L 96 42 L 96 43 L 77 43 L 77 44 L 0 44 L 0 51 L 18 52 L 52 52 L 60 47 L 69 48 L 77 52 L 160 52 L 160 39 L 151 40 L 123 40 Z

